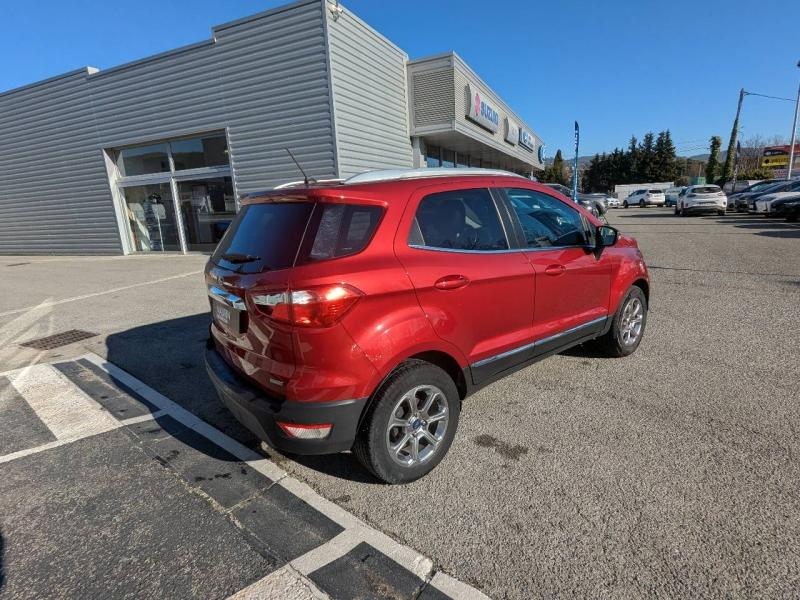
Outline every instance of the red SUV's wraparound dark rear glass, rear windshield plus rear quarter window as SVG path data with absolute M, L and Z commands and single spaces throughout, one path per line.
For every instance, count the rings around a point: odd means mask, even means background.
M 287 269 L 295 260 L 307 263 L 348 256 L 366 247 L 382 214 L 378 206 L 356 204 L 249 204 L 211 260 L 239 273 L 258 273 Z

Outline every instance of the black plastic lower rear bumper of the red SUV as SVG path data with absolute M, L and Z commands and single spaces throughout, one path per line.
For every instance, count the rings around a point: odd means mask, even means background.
M 276 398 L 245 381 L 214 348 L 207 348 L 206 370 L 222 403 L 259 439 L 273 448 L 293 454 L 333 454 L 353 446 L 367 399 L 337 402 L 291 402 Z M 298 424 L 330 423 L 322 440 L 289 437 L 277 421 Z

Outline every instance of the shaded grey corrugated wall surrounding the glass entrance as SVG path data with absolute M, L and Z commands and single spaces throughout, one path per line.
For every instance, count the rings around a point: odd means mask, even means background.
M 0 94 L 0 253 L 122 251 L 103 148 L 227 128 L 238 193 L 298 179 L 287 147 L 335 177 L 323 11 L 294 4 L 205 43 Z

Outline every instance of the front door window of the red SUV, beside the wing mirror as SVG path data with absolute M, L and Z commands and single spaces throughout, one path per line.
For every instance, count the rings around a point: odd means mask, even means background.
M 506 189 L 529 248 L 583 246 L 586 231 L 580 213 L 548 194 Z

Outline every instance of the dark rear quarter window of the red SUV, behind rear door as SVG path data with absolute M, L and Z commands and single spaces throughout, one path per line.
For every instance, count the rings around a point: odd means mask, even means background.
M 322 204 L 322 215 L 308 260 L 324 260 L 363 250 L 378 227 L 379 206 Z

